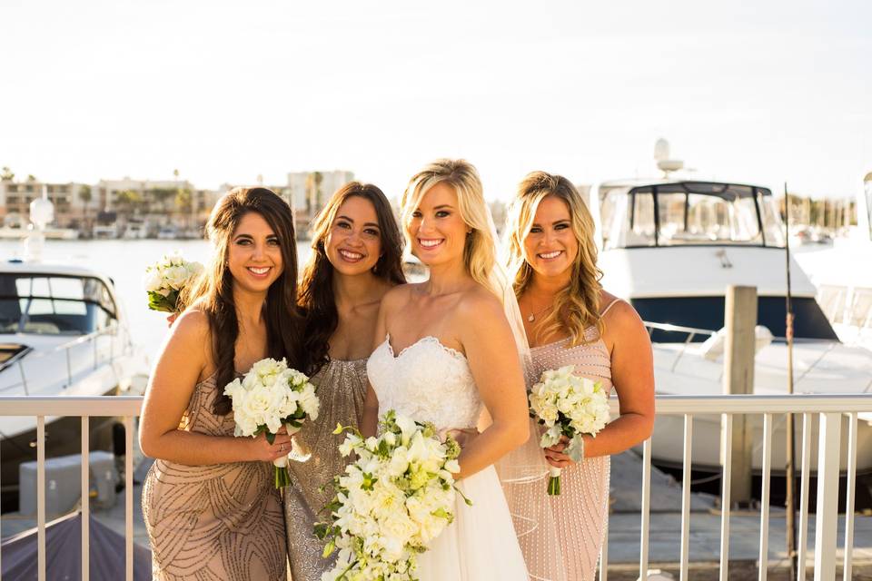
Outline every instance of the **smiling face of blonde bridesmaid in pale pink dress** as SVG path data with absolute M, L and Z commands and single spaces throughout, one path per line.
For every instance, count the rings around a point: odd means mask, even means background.
M 572 231 L 569 205 L 557 196 L 545 196 L 524 238 L 524 259 L 536 276 L 565 277 L 578 254 L 579 241 Z

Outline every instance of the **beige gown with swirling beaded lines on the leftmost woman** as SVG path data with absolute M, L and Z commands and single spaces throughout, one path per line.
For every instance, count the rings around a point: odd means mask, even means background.
M 233 436 L 233 412 L 215 416 L 214 376 L 198 383 L 180 428 Z M 155 581 L 284 581 L 281 498 L 268 462 L 186 466 L 156 460 L 143 485 Z

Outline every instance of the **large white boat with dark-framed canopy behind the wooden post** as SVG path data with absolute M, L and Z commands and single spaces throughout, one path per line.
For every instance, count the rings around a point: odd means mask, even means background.
M 604 182 L 590 192 L 603 286 L 647 321 L 659 394 L 721 394 L 725 292 L 758 291 L 754 393 L 788 389 L 784 227 L 772 193 L 729 182 L 653 179 Z M 815 300 L 815 286 L 791 260 L 795 393 L 872 391 L 872 352 L 842 344 Z M 783 419 L 773 442 L 773 470 L 785 465 Z M 762 418 L 751 421 L 762 442 Z M 681 466 L 683 419 L 661 416 L 652 458 Z M 817 445 L 817 438 L 812 441 Z M 847 441 L 847 428 L 845 440 Z M 859 422 L 857 470 L 872 471 L 872 417 Z M 847 448 L 847 447 L 846 447 Z M 695 417 L 693 466 L 719 470 L 720 417 Z M 797 450 L 797 453 L 799 450 Z M 812 450 L 817 454 L 816 450 Z M 842 450 L 846 468 L 847 450 Z M 761 446 L 753 450 L 759 470 Z

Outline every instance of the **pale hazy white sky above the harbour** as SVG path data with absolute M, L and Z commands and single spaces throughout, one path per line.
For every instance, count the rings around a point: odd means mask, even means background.
M 742 6 L 747 5 L 747 6 Z M 0 165 L 202 187 L 432 158 L 490 198 L 531 170 L 854 195 L 872 171 L 872 2 L 0 0 Z

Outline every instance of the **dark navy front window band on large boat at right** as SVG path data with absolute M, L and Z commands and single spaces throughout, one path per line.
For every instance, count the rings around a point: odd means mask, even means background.
M 642 320 L 666 323 L 693 329 L 719 330 L 724 326 L 724 297 L 668 297 L 631 299 Z M 836 331 L 829 324 L 817 300 L 811 297 L 794 298 L 794 337 L 797 339 L 837 340 Z M 763 325 L 775 337 L 783 338 L 787 306 L 784 297 L 758 297 L 757 324 Z M 651 340 L 684 342 L 684 331 L 654 330 Z M 697 334 L 692 341 L 707 340 L 708 335 Z

